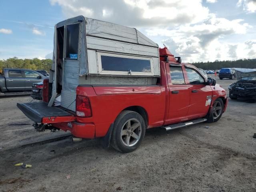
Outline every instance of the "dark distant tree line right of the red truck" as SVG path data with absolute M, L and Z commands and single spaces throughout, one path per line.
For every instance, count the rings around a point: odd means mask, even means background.
M 236 61 L 214 61 L 214 62 L 194 62 L 197 68 L 204 70 L 219 70 L 221 68 L 256 68 L 256 59 L 240 59 Z

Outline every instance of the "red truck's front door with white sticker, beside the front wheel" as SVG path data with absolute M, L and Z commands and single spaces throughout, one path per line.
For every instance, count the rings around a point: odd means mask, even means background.
M 206 85 L 206 79 L 195 68 L 185 67 L 190 86 L 190 104 L 187 118 L 206 116 L 212 101 L 212 88 Z

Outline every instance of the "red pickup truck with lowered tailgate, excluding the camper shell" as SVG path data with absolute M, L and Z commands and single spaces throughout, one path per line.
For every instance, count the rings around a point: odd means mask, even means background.
M 172 130 L 218 121 L 228 104 L 226 91 L 195 66 L 177 62 L 166 48 L 159 51 L 161 76 L 154 86 L 79 85 L 76 114 L 51 107 L 60 116 L 49 116 L 43 111 L 45 102 L 37 109 L 33 104 L 38 103 L 17 105 L 35 122 L 69 130 L 78 138 L 102 137 L 121 152 L 138 148 L 148 128 Z

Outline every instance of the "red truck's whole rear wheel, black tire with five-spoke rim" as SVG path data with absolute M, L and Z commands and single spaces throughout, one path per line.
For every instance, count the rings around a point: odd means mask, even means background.
M 130 125 L 129 125 L 130 121 Z M 132 127 L 139 125 L 132 130 Z M 128 130 L 129 129 L 129 130 Z M 126 135 L 124 132 L 126 132 Z M 122 111 L 114 122 L 114 128 L 111 136 L 111 146 L 123 153 L 128 153 L 136 150 L 142 142 L 146 132 L 146 124 L 140 114 L 134 111 L 125 110 Z M 128 136 L 129 135 L 129 136 Z M 134 136 L 140 136 L 136 139 Z M 128 138 L 128 139 L 127 139 Z M 129 140 L 129 141 L 128 141 Z M 130 140 L 132 142 L 130 143 Z M 127 146 L 127 145 L 131 146 Z

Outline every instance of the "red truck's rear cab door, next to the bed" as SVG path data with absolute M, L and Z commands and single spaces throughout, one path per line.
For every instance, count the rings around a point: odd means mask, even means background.
M 185 84 L 184 67 L 181 64 L 166 66 L 169 86 L 168 123 L 186 120 L 190 103 L 190 85 Z

